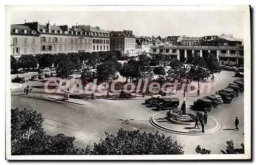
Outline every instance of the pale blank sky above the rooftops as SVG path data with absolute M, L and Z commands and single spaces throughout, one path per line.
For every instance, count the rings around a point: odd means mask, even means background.
M 137 36 L 166 37 L 233 34 L 243 38 L 243 11 L 36 11 L 13 12 L 11 23 L 100 26 L 109 31 L 132 30 Z

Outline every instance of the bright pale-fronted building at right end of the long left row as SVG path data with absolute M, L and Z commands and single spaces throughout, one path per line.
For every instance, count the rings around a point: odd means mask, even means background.
M 92 37 L 92 51 L 109 51 L 110 50 L 110 33 L 99 28 L 99 26 L 91 27 L 91 25 L 78 25 L 84 31 L 90 32 Z

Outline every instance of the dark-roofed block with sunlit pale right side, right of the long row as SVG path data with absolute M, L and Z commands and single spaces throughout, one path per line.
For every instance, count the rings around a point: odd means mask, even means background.
M 133 31 L 123 30 L 110 32 L 110 50 L 120 50 L 122 54 L 130 56 L 136 53 L 136 40 Z

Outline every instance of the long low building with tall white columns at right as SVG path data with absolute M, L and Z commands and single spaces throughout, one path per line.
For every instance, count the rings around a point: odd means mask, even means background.
M 151 46 L 151 54 L 163 53 L 170 59 L 177 58 L 180 61 L 191 62 L 194 53 L 206 58 L 207 52 L 214 53 L 217 59 L 225 65 L 244 64 L 244 47 L 241 41 L 228 41 L 216 38 L 208 41 L 201 41 L 199 45 L 156 45 Z

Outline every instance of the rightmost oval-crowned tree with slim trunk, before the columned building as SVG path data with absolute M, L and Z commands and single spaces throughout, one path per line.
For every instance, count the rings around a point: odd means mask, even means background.
M 212 81 L 214 81 L 214 73 L 221 72 L 221 65 L 214 53 L 207 52 L 206 54 L 206 66 L 212 74 Z

